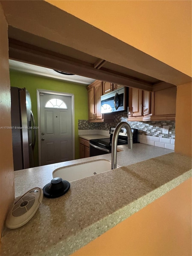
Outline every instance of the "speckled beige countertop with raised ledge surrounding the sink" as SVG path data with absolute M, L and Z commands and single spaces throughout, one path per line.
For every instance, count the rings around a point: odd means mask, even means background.
M 133 150 L 120 147 L 124 151 L 117 154 L 118 165 L 127 166 L 73 181 L 62 197 L 44 197 L 26 225 L 4 231 L 2 254 L 70 255 L 191 176 L 190 157 L 166 154 L 172 151 L 145 144 L 134 144 Z M 161 156 L 149 159 L 158 154 Z M 16 171 L 16 196 L 35 186 L 43 187 L 50 182 L 52 170 L 61 166 L 64 163 Z

